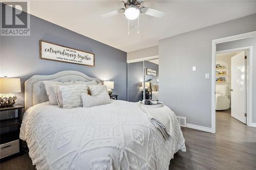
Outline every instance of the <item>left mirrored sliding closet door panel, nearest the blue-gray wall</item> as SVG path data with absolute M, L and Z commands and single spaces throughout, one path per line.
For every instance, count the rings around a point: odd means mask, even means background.
M 128 101 L 141 100 L 141 82 L 143 82 L 143 61 L 128 64 Z

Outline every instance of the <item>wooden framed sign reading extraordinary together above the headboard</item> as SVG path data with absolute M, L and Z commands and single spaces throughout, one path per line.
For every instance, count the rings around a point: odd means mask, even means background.
M 94 54 L 47 41 L 39 41 L 40 59 L 94 66 Z

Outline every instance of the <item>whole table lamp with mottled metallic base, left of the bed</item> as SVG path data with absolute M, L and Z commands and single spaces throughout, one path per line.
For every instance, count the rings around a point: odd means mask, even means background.
M 22 92 L 19 78 L 0 78 L 0 107 L 9 107 L 17 102 L 12 93 Z

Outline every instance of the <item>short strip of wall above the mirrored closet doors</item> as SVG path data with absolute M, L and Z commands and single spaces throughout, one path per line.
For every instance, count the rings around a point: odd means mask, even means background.
M 158 46 L 151 46 L 127 53 L 127 61 L 136 60 L 145 57 L 158 56 Z

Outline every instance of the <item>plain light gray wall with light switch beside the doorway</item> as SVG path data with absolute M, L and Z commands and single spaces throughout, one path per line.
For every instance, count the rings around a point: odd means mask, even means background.
M 188 124 L 210 128 L 211 41 L 256 31 L 255 21 L 253 14 L 160 40 L 159 100 L 186 117 Z M 210 79 L 205 79 L 206 73 Z

